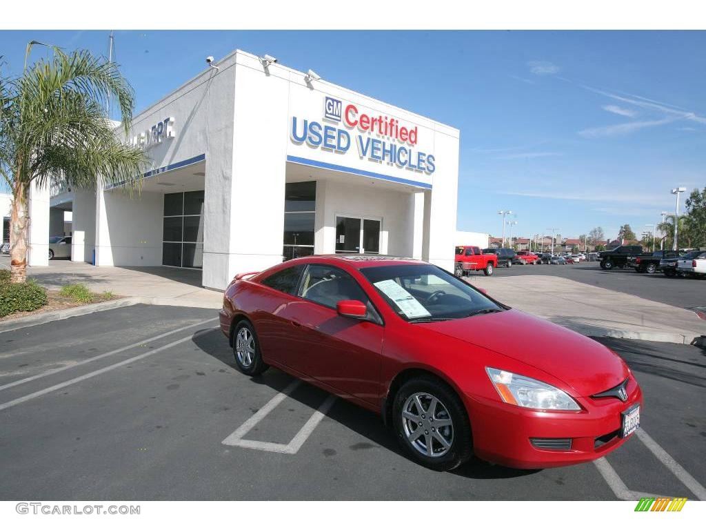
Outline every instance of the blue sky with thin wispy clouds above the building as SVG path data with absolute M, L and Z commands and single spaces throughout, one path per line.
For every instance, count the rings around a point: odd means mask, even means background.
M 28 40 L 107 54 L 107 35 L 0 32 L 2 71 Z M 522 236 L 639 233 L 706 186 L 705 32 L 116 32 L 138 112 L 236 48 L 459 128 L 461 230 L 498 235 L 511 209 Z

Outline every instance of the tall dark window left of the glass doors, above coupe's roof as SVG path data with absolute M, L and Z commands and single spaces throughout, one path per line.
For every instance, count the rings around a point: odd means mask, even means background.
M 285 184 L 285 261 L 313 254 L 315 213 L 316 182 Z

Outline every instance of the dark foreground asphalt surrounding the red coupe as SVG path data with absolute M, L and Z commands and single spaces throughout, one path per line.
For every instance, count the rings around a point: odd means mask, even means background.
M 602 339 L 645 408 L 641 437 L 599 465 L 436 473 L 373 413 L 279 370 L 242 375 L 215 316 L 136 305 L 1 333 L 0 499 L 706 499 L 699 348 Z

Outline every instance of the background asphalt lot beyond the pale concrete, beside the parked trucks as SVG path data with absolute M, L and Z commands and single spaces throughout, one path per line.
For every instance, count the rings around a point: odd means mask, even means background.
M 469 277 L 479 274 L 482 272 L 471 273 Z M 643 274 L 629 268 L 604 271 L 598 261 L 582 261 L 573 265 L 513 265 L 510 269 L 503 266 L 495 269 L 493 276 L 523 274 L 561 276 L 684 309 L 706 306 L 706 279 L 667 278 L 662 273 Z

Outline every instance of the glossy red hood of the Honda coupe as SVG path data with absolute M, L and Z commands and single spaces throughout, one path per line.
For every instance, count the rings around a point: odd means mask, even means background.
M 615 387 L 628 377 L 623 360 L 606 346 L 518 310 L 424 325 L 551 374 L 580 396 Z

